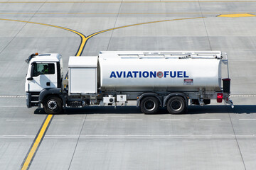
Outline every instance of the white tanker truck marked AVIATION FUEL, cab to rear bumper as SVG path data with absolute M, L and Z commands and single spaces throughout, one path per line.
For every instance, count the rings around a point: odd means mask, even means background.
M 225 52 L 102 51 L 98 56 L 71 56 L 65 77 L 59 54 L 36 53 L 26 62 L 27 106 L 43 106 L 48 114 L 63 108 L 126 106 L 128 101 L 137 102 L 146 114 L 159 108 L 186 113 L 188 103 L 205 106 L 211 100 L 233 106 L 230 79 L 222 72 L 228 70 Z

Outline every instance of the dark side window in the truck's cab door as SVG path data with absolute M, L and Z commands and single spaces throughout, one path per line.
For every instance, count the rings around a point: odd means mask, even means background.
M 41 74 L 55 74 L 53 63 L 34 63 L 33 77 L 38 77 Z

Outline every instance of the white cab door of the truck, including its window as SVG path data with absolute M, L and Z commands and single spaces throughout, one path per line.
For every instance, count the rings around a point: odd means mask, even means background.
M 42 91 L 54 88 L 57 82 L 56 63 L 33 62 L 33 76 L 29 81 L 29 91 Z

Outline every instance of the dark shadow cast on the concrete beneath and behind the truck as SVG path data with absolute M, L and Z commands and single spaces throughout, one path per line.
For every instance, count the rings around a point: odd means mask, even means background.
M 256 105 L 235 105 L 230 106 L 188 106 L 187 114 L 205 114 L 205 113 L 238 113 L 250 114 L 256 113 Z M 42 108 L 36 109 L 34 114 L 46 114 Z M 85 108 L 66 108 L 62 115 L 80 115 L 80 114 L 143 114 L 136 106 L 89 106 Z M 169 114 L 166 108 L 159 109 L 158 114 Z

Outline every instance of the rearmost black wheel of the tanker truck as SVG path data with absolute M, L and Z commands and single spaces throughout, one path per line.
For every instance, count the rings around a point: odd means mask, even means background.
M 186 113 L 186 101 L 181 96 L 171 97 L 167 102 L 167 110 L 171 114 L 183 114 Z

